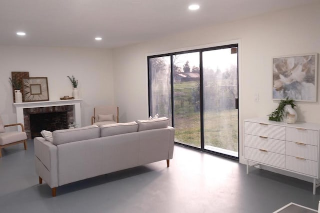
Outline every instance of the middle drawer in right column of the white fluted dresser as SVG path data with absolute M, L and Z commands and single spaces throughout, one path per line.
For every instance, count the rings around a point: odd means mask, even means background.
M 302 143 L 285 142 L 285 154 L 292 157 L 317 161 L 317 147 Z

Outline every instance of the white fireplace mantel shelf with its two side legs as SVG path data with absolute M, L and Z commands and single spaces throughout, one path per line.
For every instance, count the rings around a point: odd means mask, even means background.
M 69 100 L 57 100 L 57 101 L 35 101 L 35 102 L 13 103 L 13 105 L 16 108 L 16 122 L 24 125 L 23 109 L 25 108 L 73 105 L 74 123 L 76 123 L 79 127 L 81 127 L 81 101 L 82 100 L 83 99 L 69 99 Z

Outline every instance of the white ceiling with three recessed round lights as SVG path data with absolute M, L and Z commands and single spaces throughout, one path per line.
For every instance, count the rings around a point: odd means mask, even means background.
M 0 45 L 112 48 L 316 1 L 0 0 Z

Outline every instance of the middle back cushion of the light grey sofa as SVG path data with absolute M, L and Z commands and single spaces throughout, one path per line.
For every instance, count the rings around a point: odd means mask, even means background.
M 134 121 L 129 123 L 115 123 L 100 126 L 101 137 L 125 134 L 136 131 L 138 131 L 138 124 Z

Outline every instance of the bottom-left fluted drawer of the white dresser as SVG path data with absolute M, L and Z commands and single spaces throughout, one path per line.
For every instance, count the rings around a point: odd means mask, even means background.
M 251 147 L 244 147 L 245 158 L 254 162 L 270 165 L 278 168 L 285 168 L 285 156 L 273 153 L 265 152 L 263 150 L 254 149 Z

